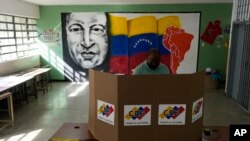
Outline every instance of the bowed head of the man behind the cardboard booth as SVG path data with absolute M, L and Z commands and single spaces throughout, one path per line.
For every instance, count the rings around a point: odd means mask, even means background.
M 156 69 L 160 65 L 160 60 L 161 60 L 160 52 L 157 49 L 152 48 L 148 54 L 147 65 L 151 69 Z

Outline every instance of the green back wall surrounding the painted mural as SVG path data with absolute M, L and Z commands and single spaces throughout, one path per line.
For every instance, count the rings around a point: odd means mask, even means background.
M 54 29 L 60 26 L 61 12 L 201 12 L 200 35 L 204 32 L 209 21 L 220 20 L 221 27 L 231 23 L 232 4 L 157 4 L 157 5 L 77 5 L 77 6 L 41 6 L 38 32 L 44 29 Z M 61 29 L 61 27 L 59 27 Z M 229 35 L 224 34 L 225 39 Z M 215 41 L 216 42 L 216 41 Z M 60 45 L 48 45 L 56 55 L 62 58 Z M 225 79 L 228 48 L 218 48 L 216 44 L 209 45 L 200 41 L 198 70 L 206 67 L 219 69 Z M 43 63 L 47 61 L 43 60 Z M 52 67 L 53 68 L 53 67 Z M 64 76 L 53 68 L 52 79 L 64 80 Z

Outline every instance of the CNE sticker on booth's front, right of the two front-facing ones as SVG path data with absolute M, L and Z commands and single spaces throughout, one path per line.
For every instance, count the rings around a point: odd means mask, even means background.
M 186 104 L 160 104 L 158 125 L 185 125 Z

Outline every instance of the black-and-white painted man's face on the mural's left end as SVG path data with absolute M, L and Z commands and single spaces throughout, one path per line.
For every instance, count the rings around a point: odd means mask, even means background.
M 88 78 L 88 69 L 108 70 L 107 16 L 105 13 L 63 13 L 64 61 L 73 79 Z M 80 81 L 81 81 L 80 80 Z M 78 81 L 78 80 L 75 80 Z

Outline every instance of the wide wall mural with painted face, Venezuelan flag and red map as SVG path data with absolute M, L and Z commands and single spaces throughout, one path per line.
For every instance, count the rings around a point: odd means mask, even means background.
M 63 58 L 76 81 L 89 68 L 132 74 L 151 48 L 172 74 L 194 73 L 199 26 L 200 13 L 62 13 Z

